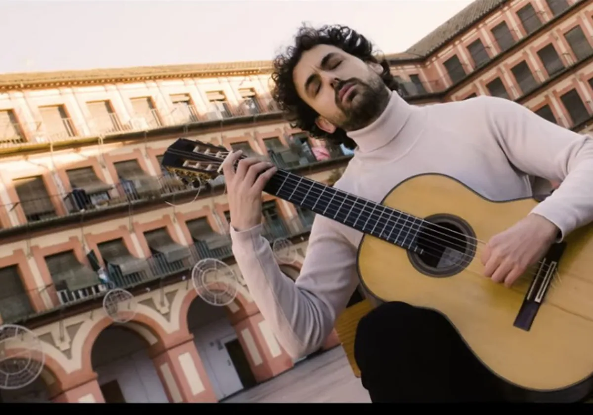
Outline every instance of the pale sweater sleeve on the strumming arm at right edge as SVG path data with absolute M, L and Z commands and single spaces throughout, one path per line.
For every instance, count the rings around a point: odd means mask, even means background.
M 531 213 L 544 216 L 563 240 L 593 221 L 593 139 L 543 119 L 514 101 L 487 97 L 489 124 L 518 170 L 560 183 Z

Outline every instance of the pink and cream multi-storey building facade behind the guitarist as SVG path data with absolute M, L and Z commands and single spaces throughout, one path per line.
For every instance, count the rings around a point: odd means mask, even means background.
M 477 0 L 387 58 L 412 104 L 496 95 L 585 133 L 592 56 L 591 2 Z M 33 330 L 45 356 L 39 379 L 0 390 L 0 400 L 214 402 L 294 366 L 241 279 L 225 307 L 193 289 L 203 258 L 240 276 L 224 182 L 196 189 L 161 167 L 167 146 L 185 137 L 331 184 L 350 153 L 283 122 L 270 69 L 0 75 L 0 323 Z M 270 242 L 292 242 L 282 269 L 297 277 L 313 215 L 266 195 L 263 221 Z M 103 308 L 114 287 L 134 295 L 127 323 Z M 333 333 L 324 347 L 336 344 Z

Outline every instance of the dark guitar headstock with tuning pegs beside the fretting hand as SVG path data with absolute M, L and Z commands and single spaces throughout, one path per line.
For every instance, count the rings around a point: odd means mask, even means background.
M 187 181 L 206 181 L 222 174 L 219 167 L 228 153 L 222 146 L 179 138 L 168 146 L 162 166 Z

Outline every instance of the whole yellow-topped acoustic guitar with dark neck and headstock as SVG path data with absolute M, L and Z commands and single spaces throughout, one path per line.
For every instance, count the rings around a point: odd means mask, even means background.
M 208 180 L 222 174 L 227 156 L 224 147 L 178 139 L 162 165 L 185 180 Z M 381 301 L 440 312 L 504 381 L 536 394 L 591 391 L 591 226 L 552 245 L 506 288 L 483 276 L 480 253 L 533 209 L 533 198 L 494 202 L 451 177 L 422 174 L 375 203 L 282 169 L 264 191 L 362 232 L 365 288 Z

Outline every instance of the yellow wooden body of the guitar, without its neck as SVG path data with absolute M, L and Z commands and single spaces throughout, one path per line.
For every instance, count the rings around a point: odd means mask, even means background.
M 493 202 L 450 177 L 425 174 L 401 183 L 383 205 L 428 221 L 432 216 L 441 226 L 487 242 L 528 215 L 537 202 Z M 585 395 L 593 373 L 593 227 L 578 229 L 566 242 L 557 275 L 528 328 L 514 324 L 537 267 L 512 288 L 493 283 L 482 274 L 482 242 L 477 249 L 467 248 L 471 262 L 466 267 L 444 264 L 439 269 L 364 235 L 358 269 L 363 285 L 378 299 L 444 315 L 477 359 L 503 381 L 534 392 L 572 388 L 571 393 Z

